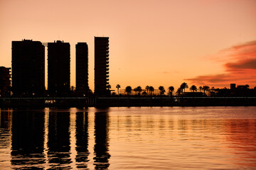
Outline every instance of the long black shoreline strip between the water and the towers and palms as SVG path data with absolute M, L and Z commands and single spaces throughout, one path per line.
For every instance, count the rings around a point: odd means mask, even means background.
M 256 106 L 256 97 L 0 98 L 0 108 Z

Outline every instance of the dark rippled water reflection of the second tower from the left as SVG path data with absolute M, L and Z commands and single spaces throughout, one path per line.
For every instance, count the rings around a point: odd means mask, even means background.
M 70 169 L 70 113 L 50 112 L 48 162 L 51 169 Z

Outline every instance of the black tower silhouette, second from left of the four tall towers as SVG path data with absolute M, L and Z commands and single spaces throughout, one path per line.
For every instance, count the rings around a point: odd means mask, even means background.
M 67 96 L 70 92 L 70 44 L 48 42 L 48 93 Z

